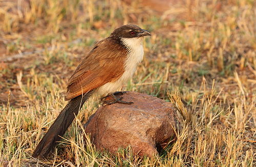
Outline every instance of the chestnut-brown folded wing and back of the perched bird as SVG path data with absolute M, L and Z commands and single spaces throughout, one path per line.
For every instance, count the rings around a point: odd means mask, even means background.
M 65 100 L 117 80 L 124 72 L 126 49 L 109 38 L 98 42 L 68 80 Z

